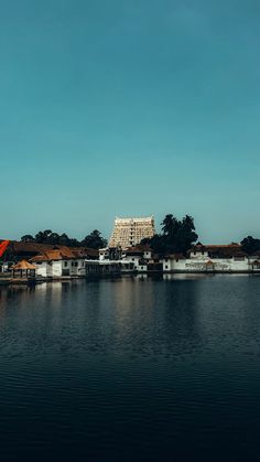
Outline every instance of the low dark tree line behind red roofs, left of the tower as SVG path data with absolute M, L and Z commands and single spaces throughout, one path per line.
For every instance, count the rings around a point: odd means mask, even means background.
M 25 234 L 21 237 L 21 241 L 52 244 L 67 247 L 90 247 L 94 249 L 99 249 L 107 246 L 107 239 L 101 236 L 101 233 L 98 229 L 94 229 L 83 240 L 68 237 L 66 233 L 59 235 L 58 233 L 52 232 L 52 229 L 45 229 L 40 230 L 35 234 L 35 236 Z

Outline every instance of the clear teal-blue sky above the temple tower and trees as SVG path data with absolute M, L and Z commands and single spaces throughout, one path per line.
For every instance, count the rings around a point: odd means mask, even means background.
M 260 237 L 259 0 L 0 0 L 0 237 Z

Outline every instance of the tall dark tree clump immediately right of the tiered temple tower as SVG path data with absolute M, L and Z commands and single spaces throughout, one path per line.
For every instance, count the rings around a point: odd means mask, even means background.
M 149 244 L 156 254 L 182 253 L 186 255 L 197 240 L 194 219 L 189 215 L 178 221 L 172 214 L 167 214 L 161 226 L 161 234 L 156 234 L 151 239 L 142 240 L 142 244 Z

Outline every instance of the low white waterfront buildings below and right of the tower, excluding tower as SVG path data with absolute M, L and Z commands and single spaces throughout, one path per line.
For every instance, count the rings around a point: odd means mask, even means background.
M 248 256 L 239 244 L 203 245 L 196 244 L 187 256 L 171 254 L 159 256 L 148 245 L 137 245 L 118 251 L 110 258 L 109 249 L 99 250 L 99 261 L 86 262 L 86 272 L 109 272 L 115 265 L 121 272 L 260 272 L 260 251 Z M 96 269 L 94 267 L 96 266 Z M 113 272 L 111 269 L 110 272 Z

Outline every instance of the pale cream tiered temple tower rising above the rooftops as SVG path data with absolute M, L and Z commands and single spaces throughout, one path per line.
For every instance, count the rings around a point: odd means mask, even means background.
M 109 240 L 109 247 L 121 247 L 126 249 L 141 243 L 145 237 L 154 236 L 153 216 L 142 218 L 119 218 L 115 219 L 115 227 Z

